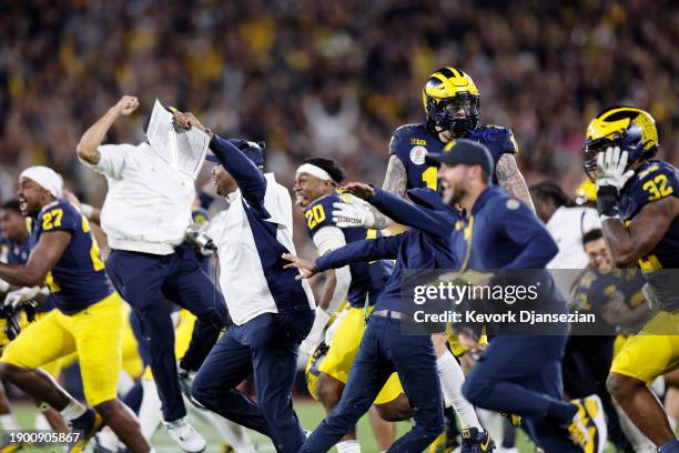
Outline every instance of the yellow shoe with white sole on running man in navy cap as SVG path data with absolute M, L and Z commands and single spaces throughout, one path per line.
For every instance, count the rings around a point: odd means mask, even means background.
M 604 417 L 604 406 L 597 395 L 572 400 L 578 407 L 568 425 L 568 433 L 574 443 L 580 445 L 585 453 L 604 453 L 608 429 Z

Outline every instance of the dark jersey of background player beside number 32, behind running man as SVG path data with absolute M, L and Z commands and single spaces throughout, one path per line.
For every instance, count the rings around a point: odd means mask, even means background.
M 595 269 L 587 270 L 580 278 L 572 295 L 574 308 L 580 312 L 600 313 L 601 309 L 622 295 L 629 309 L 637 309 L 646 303 L 641 288 L 646 280 L 638 269 L 614 269 L 604 274 Z M 591 328 L 591 326 L 588 326 Z M 615 334 L 617 329 L 597 316 L 597 332 Z

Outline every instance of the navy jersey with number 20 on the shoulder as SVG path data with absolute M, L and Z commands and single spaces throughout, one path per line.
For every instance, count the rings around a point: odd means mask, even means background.
M 337 193 L 333 193 L 310 204 L 304 213 L 306 217 L 306 230 L 313 239 L 318 231 L 324 226 L 335 226 L 333 222 L 333 203 L 351 202 L 342 198 Z M 382 233 L 376 230 L 368 230 L 365 226 L 344 228 L 342 229 L 344 241 L 348 244 L 364 239 L 381 238 Z M 377 295 L 384 289 L 384 285 L 394 271 L 394 264 L 387 260 L 377 260 L 373 262 L 357 262 L 349 265 L 352 274 L 352 283 L 347 293 L 348 303 L 352 306 L 363 306 L 365 298 L 368 298 L 371 305 L 377 301 Z

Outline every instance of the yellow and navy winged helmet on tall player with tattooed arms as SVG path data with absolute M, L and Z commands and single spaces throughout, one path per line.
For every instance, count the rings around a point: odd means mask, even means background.
M 458 69 L 442 68 L 429 76 L 422 90 L 422 101 L 427 128 L 435 134 L 439 128 L 460 138 L 478 125 L 478 90 L 474 80 Z

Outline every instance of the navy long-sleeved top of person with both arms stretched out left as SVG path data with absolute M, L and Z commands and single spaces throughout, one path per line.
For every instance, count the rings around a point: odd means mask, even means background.
M 394 272 L 379 294 L 375 310 L 402 312 L 414 309 L 403 303 L 406 271 L 459 268 L 450 246 L 452 225 L 459 220 L 459 213 L 429 189 L 411 190 L 408 197 L 416 204 L 382 190 L 376 190 L 375 197 L 368 201 L 391 219 L 411 226 L 409 230 L 393 236 L 355 241 L 316 260 L 317 269 L 325 270 L 361 261 L 395 259 Z

